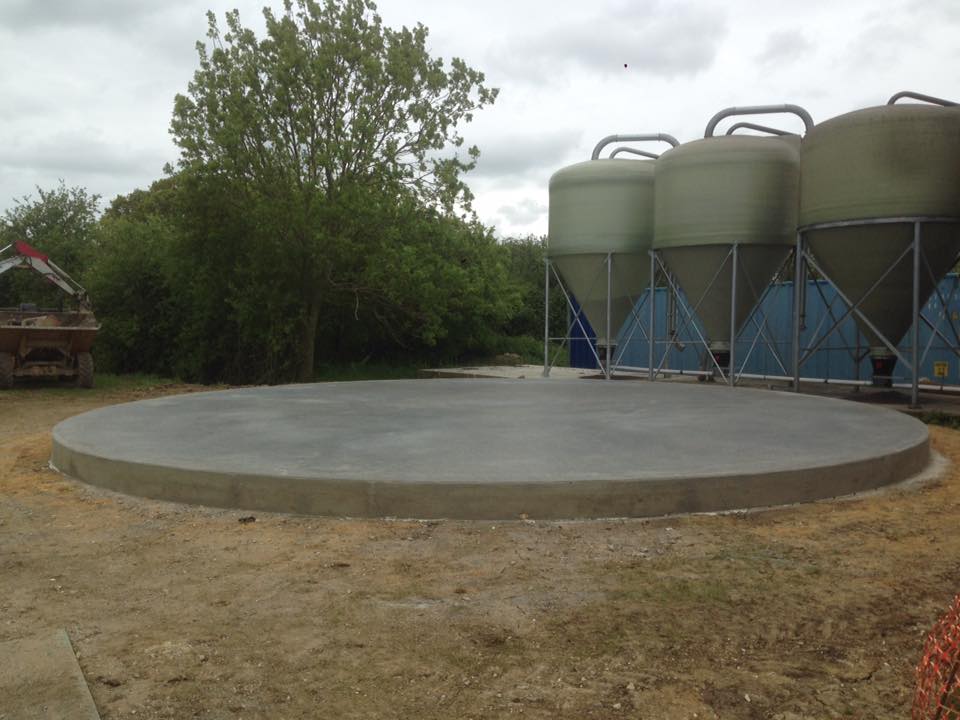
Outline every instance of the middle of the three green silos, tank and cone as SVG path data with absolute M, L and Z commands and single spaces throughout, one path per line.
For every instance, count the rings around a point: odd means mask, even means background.
M 654 248 L 697 306 L 721 368 L 735 340 L 731 249 L 737 245 L 739 334 L 796 240 L 799 151 L 796 135 L 727 135 L 686 143 L 657 161 Z

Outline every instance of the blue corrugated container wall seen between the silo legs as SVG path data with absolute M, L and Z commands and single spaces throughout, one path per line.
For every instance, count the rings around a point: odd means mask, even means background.
M 940 283 L 940 294 L 948 300 L 947 307 L 950 316 L 955 324 L 960 320 L 960 278 L 951 274 L 944 278 Z M 686 312 L 689 306 L 681 303 L 677 309 L 677 329 L 679 344 L 667 346 L 662 342 L 667 337 L 667 290 L 658 288 L 656 290 L 656 337 L 658 342 L 655 345 L 654 366 L 660 366 L 664 354 L 667 354 L 662 367 L 665 369 L 680 371 L 696 371 L 700 369 L 704 357 L 704 348 L 698 340 L 696 330 L 686 322 Z M 644 327 L 649 322 L 650 308 L 646 304 L 649 294 L 645 295 L 637 303 L 634 312 L 642 318 Z M 817 335 L 829 329 L 834 320 L 830 317 L 832 310 L 833 318 L 839 319 L 846 311 L 846 305 L 837 297 L 836 290 L 822 280 L 811 280 L 807 283 L 807 317 L 806 329 L 801 333 L 801 341 L 804 346 L 809 345 L 814 332 Z M 940 332 L 948 338 L 953 338 L 953 331 L 950 329 L 948 320 L 944 317 L 944 311 L 936 293 L 930 298 L 923 308 L 924 314 L 935 324 L 939 321 Z M 767 335 L 770 337 L 777 350 L 780 353 L 780 359 L 783 364 L 777 362 L 775 354 L 766 347 L 761 338 L 751 350 L 751 345 L 757 337 L 757 325 L 762 317 L 766 317 Z M 572 316 L 571 316 L 572 319 Z M 585 323 L 586 324 L 586 323 Z M 746 362 L 745 372 L 757 375 L 792 375 L 791 367 L 791 335 L 793 324 L 793 283 L 779 283 L 770 288 L 759 311 L 754 313 L 747 327 L 741 332 L 736 346 L 737 366 L 740 367 L 743 360 L 749 354 Z M 697 324 L 699 327 L 699 324 Z M 575 330 L 578 328 L 575 328 Z M 702 329 L 701 329 L 702 332 Z M 942 338 L 934 337 L 931 343 L 932 331 L 921 324 L 920 327 L 920 353 L 923 356 L 926 351 L 926 357 L 920 365 L 920 375 L 923 378 L 934 380 L 934 363 L 946 362 L 948 367 L 947 377 L 936 379 L 937 383 L 949 385 L 960 385 L 960 362 L 956 355 L 947 349 L 946 343 Z M 570 364 L 573 367 L 596 367 L 596 359 L 590 352 L 586 341 L 581 339 L 579 347 L 571 345 Z M 900 352 L 909 358 L 910 336 L 903 338 L 900 343 Z M 594 336 L 595 337 L 595 336 Z M 628 367 L 646 367 L 648 364 L 648 344 L 643 337 L 643 332 L 636 326 L 636 322 L 631 318 L 627 321 L 619 333 L 617 346 L 618 362 L 617 365 Z M 862 354 L 865 349 L 864 339 L 857 332 L 856 324 L 852 317 L 846 318 L 840 326 L 840 331 L 835 332 L 814 355 L 803 364 L 800 369 L 802 377 L 813 377 L 822 379 L 837 380 L 869 380 L 871 376 L 870 359 L 864 358 L 858 367 L 854 363 L 851 354 L 857 354 L 859 344 L 859 353 Z M 960 343 L 957 343 L 960 345 Z M 927 350 L 929 345 L 929 350 Z M 849 349 L 848 349 L 849 348 Z M 908 382 L 910 373 L 905 367 L 898 363 L 894 370 L 896 382 Z

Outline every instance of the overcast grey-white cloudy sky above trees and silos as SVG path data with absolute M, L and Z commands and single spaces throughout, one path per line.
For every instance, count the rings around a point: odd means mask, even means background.
M 105 203 L 162 176 L 173 97 L 205 13 L 264 0 L 0 0 L 0 213 L 59 179 Z M 544 234 L 550 174 L 611 133 L 703 134 L 730 105 L 797 103 L 814 120 L 913 89 L 960 99 L 960 0 L 383 0 L 434 54 L 500 88 L 464 128 L 480 218 Z M 625 67 L 626 66 L 626 67 Z M 773 116 L 799 131 L 800 122 Z

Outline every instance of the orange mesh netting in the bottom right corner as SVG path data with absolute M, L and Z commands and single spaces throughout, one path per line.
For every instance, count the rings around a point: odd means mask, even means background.
M 960 720 L 960 595 L 933 626 L 917 666 L 913 720 Z

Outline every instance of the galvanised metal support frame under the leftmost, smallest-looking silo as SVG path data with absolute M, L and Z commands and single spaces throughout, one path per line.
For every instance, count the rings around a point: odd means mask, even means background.
M 640 332 L 644 337 L 649 337 L 649 333 L 643 327 L 641 310 L 643 309 L 643 304 L 649 298 L 651 300 L 651 319 L 653 318 L 653 301 L 652 293 L 645 293 L 640 296 L 640 298 L 634 298 L 633 296 L 628 295 L 627 298 L 630 301 L 631 305 L 631 318 L 633 323 L 630 327 L 630 332 L 628 333 L 625 340 L 621 343 L 619 351 L 614 354 L 611 348 L 611 340 L 613 334 L 612 323 L 612 309 L 613 309 L 613 264 L 615 261 L 616 253 L 609 252 L 606 255 L 606 259 L 603 261 L 602 266 L 598 267 L 597 274 L 594 276 L 592 284 L 587 291 L 588 294 L 593 292 L 596 283 L 604 275 L 603 269 L 606 268 L 606 300 L 607 300 L 607 317 L 606 317 L 606 337 L 607 344 L 605 347 L 604 357 L 601 358 L 600 354 L 597 352 L 597 349 L 594 347 L 593 343 L 590 344 L 590 352 L 592 353 L 594 360 L 596 360 L 597 365 L 603 370 L 603 376 L 605 380 L 613 379 L 614 372 L 617 369 L 620 359 L 623 357 L 624 349 L 627 344 L 632 340 L 633 335 L 636 330 L 639 328 Z M 563 293 L 563 297 L 566 300 L 567 308 L 570 312 L 573 313 L 573 321 L 567 326 L 567 331 L 563 336 L 560 337 L 551 337 L 550 336 L 550 288 L 551 288 L 551 275 L 556 281 L 556 286 L 560 288 L 560 292 Z M 560 273 L 554 267 L 550 258 L 544 259 L 544 321 L 543 321 L 543 377 L 550 377 L 550 370 L 553 368 L 556 363 L 557 358 L 560 356 L 560 353 L 566 347 L 567 343 L 574 339 L 571 337 L 570 333 L 573 331 L 574 327 L 579 327 L 580 332 L 583 334 L 583 338 L 590 341 L 590 336 L 587 334 L 587 330 L 584 327 L 582 322 L 583 314 L 583 305 L 575 305 L 572 294 L 567 290 L 566 285 L 563 282 L 563 278 L 560 276 Z M 619 328 L 617 328 L 619 329 Z M 560 347 L 557 348 L 556 352 L 553 354 L 553 359 L 550 358 L 550 341 L 551 340 L 560 340 Z

